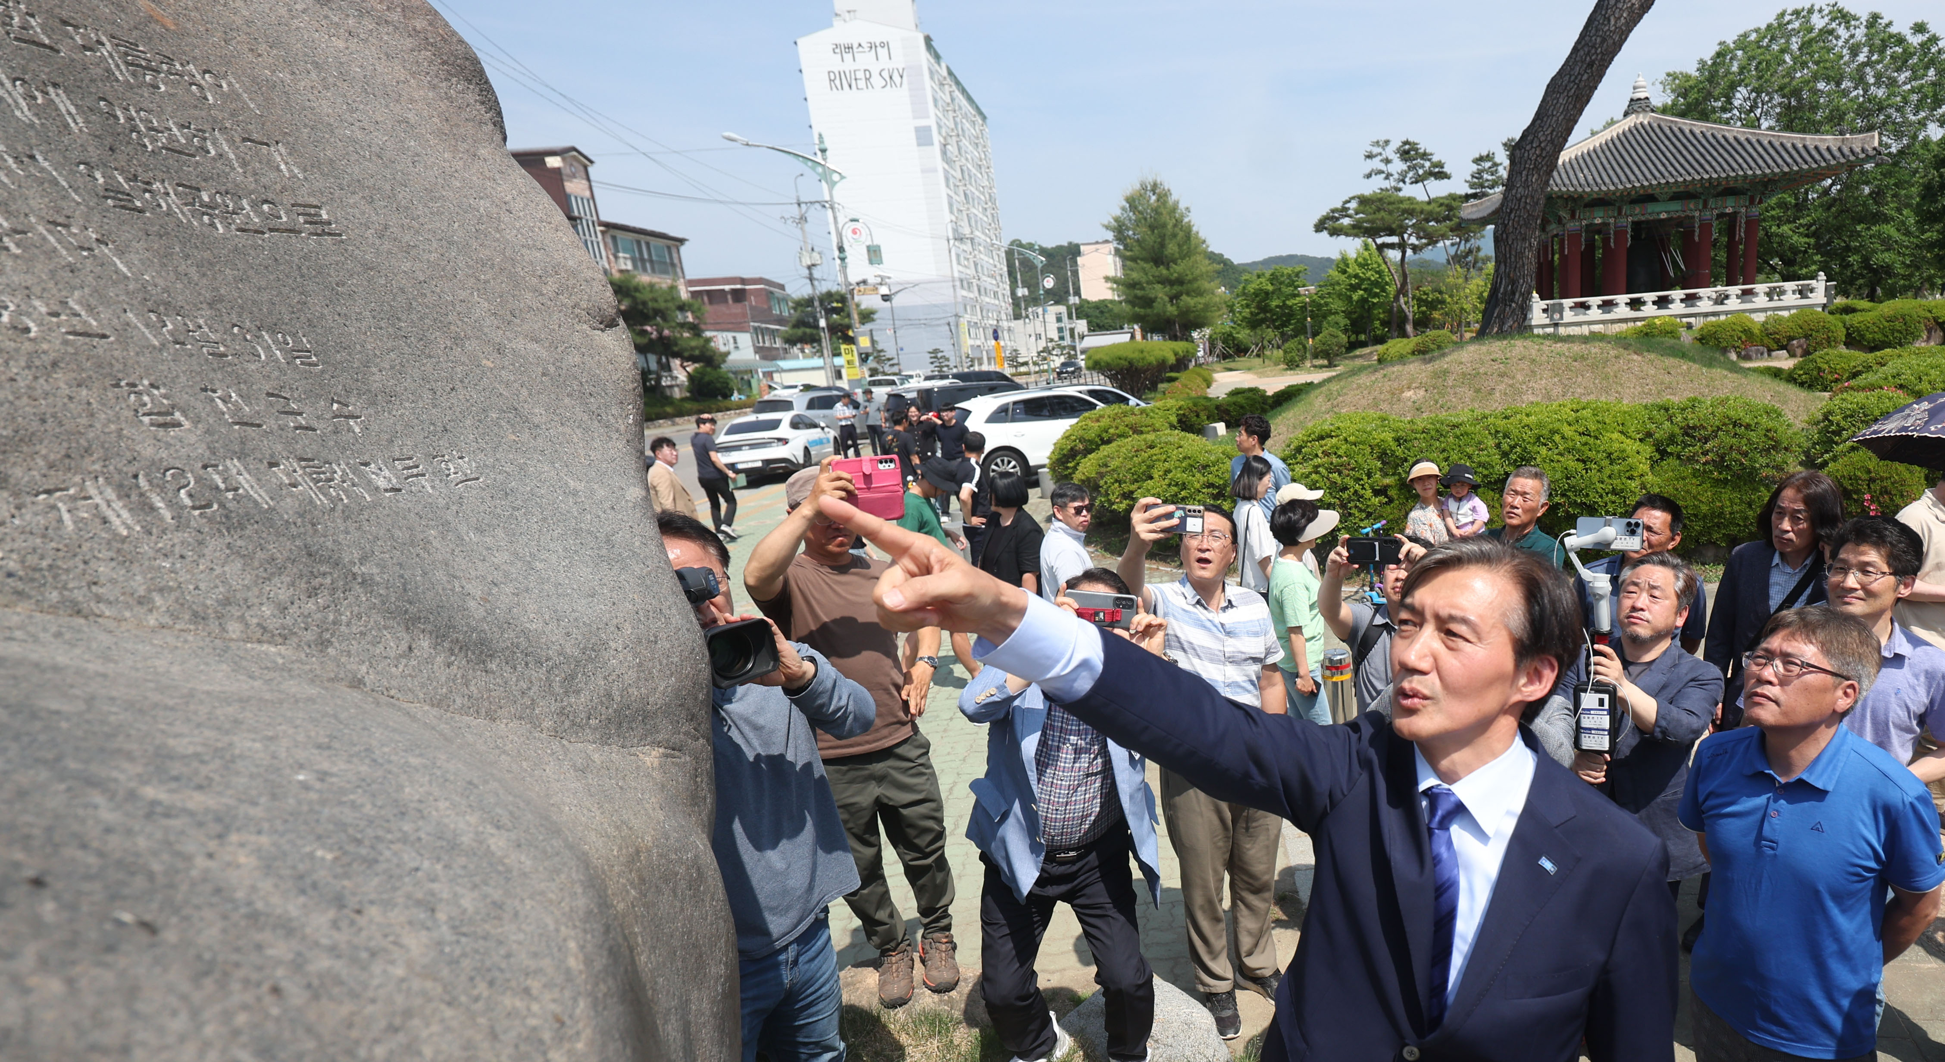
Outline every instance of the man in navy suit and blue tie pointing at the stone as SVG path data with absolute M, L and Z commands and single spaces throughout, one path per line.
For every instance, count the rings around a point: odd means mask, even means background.
M 1402 589 L 1393 720 L 1268 716 L 932 539 L 827 498 L 889 550 L 879 622 L 978 632 L 1111 741 L 1317 846 L 1264 1058 L 1673 1060 L 1667 848 L 1537 755 L 1521 710 L 1579 640 L 1572 582 L 1502 543 L 1428 552 Z

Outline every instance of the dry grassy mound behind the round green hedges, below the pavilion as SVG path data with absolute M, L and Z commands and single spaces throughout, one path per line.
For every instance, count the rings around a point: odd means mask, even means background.
M 1680 340 L 1509 336 L 1340 372 L 1276 410 L 1274 438 L 1290 438 L 1336 412 L 1428 416 L 1566 399 L 1651 403 L 1714 395 L 1770 403 L 1797 424 L 1822 405 L 1821 395 Z

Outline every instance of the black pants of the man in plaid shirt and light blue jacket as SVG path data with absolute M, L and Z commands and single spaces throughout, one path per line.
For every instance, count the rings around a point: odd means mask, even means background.
M 1095 957 L 1095 984 L 1107 992 L 1109 1058 L 1142 1058 L 1155 1027 L 1155 976 L 1142 957 L 1142 928 L 1134 918 L 1134 871 L 1128 867 L 1128 829 L 1109 831 L 1070 864 L 1041 864 L 1041 879 L 1027 901 L 986 864 L 978 899 L 980 992 L 1000 1043 L 1019 1058 L 1054 1050 L 1054 1019 L 1046 1013 L 1033 959 L 1054 916 L 1066 903 L 1081 922 L 1087 951 Z

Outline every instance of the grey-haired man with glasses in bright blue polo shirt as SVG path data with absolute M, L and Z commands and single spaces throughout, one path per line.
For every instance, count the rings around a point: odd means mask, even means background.
M 1715 871 L 1688 969 L 1700 1062 L 1877 1056 L 1883 965 L 1945 881 L 1931 794 L 1844 727 L 1879 655 L 1830 607 L 1776 613 L 1745 657 L 1750 726 L 1696 751 L 1679 817 Z

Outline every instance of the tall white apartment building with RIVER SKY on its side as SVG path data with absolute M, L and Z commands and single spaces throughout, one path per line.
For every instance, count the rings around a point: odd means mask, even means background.
M 844 173 L 840 222 L 862 230 L 846 241 L 850 278 L 887 276 L 901 292 L 902 368 L 924 368 L 934 346 L 986 368 L 994 331 L 1017 346 L 986 113 L 918 29 L 914 0 L 834 4 L 829 29 L 797 39 L 797 58 L 811 128 Z

